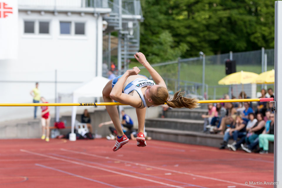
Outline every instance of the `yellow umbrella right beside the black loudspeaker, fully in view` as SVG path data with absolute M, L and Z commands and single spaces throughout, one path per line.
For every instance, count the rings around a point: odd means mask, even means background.
M 232 73 L 218 81 L 219 85 L 234 85 L 253 83 L 259 75 L 257 73 L 246 72 L 241 70 L 237 73 Z

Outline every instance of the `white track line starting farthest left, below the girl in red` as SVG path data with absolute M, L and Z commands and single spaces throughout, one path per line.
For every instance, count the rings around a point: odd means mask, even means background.
M 119 175 L 122 175 L 122 176 L 128 176 L 128 177 L 132 177 L 132 178 L 136 178 L 136 179 L 142 179 L 142 180 L 145 180 L 145 181 L 148 181 L 148 182 L 162 184 L 162 185 L 166 185 L 166 186 L 169 186 L 169 187 L 184 188 L 184 187 L 180 187 L 180 186 L 177 186 L 177 185 L 171 185 L 171 184 L 167 184 L 167 183 L 163 183 L 163 182 L 158 182 L 158 181 L 155 181 L 155 180 L 152 180 L 152 179 L 147 179 L 147 178 L 143 178 L 143 177 L 133 176 L 133 175 L 125 174 L 125 173 L 122 173 L 122 172 L 117 172 L 117 171 L 113 171 L 113 170 L 109 170 L 109 169 L 105 169 L 105 168 L 101 168 L 101 167 L 96 167 L 96 166 L 89 165 L 89 164 L 84 164 L 84 163 L 81 163 L 81 162 L 76 162 L 76 161 L 73 161 L 73 160 L 67 160 L 67 159 L 62 159 L 62 158 L 59 158 L 59 157 L 53 157 L 51 155 L 45 155 L 45 154 L 31 152 L 31 151 L 22 150 L 22 149 L 20 151 L 21 152 L 25 152 L 25 153 L 29 153 L 29 154 L 33 154 L 33 155 L 38 155 L 38 156 L 41 156 L 41 157 L 51 158 L 51 159 L 54 159 L 54 160 L 60 160 L 60 161 L 64 161 L 64 162 L 78 164 L 78 165 L 85 166 L 85 167 L 95 168 L 95 169 L 103 170 L 103 171 L 106 171 L 106 172 L 111 172 L 111 173 L 114 173 L 114 174 L 119 174 Z

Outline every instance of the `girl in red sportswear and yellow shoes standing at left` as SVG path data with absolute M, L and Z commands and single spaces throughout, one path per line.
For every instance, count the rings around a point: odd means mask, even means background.
M 48 103 L 44 97 L 41 97 L 41 101 L 42 103 Z M 50 135 L 50 109 L 48 108 L 48 106 L 41 106 L 41 125 L 42 125 L 42 136 L 41 139 L 42 140 L 46 140 L 46 142 L 49 142 L 49 135 Z M 45 132 L 46 130 L 46 132 Z M 45 134 L 46 133 L 46 134 Z

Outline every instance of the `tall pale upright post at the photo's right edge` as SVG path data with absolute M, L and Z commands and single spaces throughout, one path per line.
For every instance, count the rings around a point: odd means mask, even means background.
M 280 35 L 279 35 L 280 33 Z M 279 99 L 279 93 L 282 93 L 282 1 L 275 1 L 275 131 L 274 131 L 274 182 L 282 187 L 282 117 L 279 116 L 282 107 L 282 100 Z M 278 74 L 280 73 L 280 74 Z M 279 112 L 278 112 L 279 111 Z M 280 126 L 278 126 L 280 125 Z M 279 160 L 280 159 L 280 160 Z

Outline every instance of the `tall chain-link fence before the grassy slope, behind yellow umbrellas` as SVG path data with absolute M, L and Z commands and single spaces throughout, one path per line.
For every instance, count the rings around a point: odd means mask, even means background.
M 265 50 L 263 48 L 256 51 L 230 52 L 220 55 L 178 59 L 152 64 L 152 66 L 165 78 L 164 80 L 166 80 L 167 86 L 172 93 L 181 88 L 187 94 L 196 95 L 199 98 L 217 99 L 222 98 L 224 94 L 237 95 L 242 90 L 240 85 L 218 85 L 218 81 L 226 76 L 225 61 L 228 59 L 236 61 L 236 72 L 243 70 L 259 74 L 274 69 L 274 49 Z M 204 67 L 203 64 L 205 64 Z M 131 67 L 133 66 L 136 66 L 136 64 L 131 64 Z M 150 77 L 150 74 L 143 66 L 139 68 L 141 69 L 140 74 Z M 244 86 L 244 91 L 249 96 L 252 96 L 250 93 L 251 87 L 254 86 L 251 84 Z M 273 88 L 272 85 L 258 85 L 257 91 L 264 87 Z

